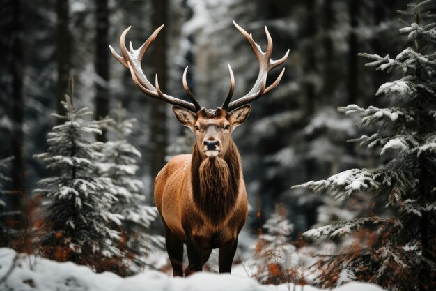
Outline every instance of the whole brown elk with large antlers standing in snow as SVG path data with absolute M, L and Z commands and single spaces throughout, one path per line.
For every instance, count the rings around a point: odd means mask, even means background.
M 272 91 L 279 84 L 279 77 L 266 87 L 267 73 L 286 61 L 289 50 L 279 60 L 272 60 L 272 38 L 265 27 L 267 50 L 263 52 L 251 34 L 233 22 L 246 38 L 258 63 L 259 73 L 254 87 L 245 96 L 231 102 L 235 78 L 228 65 L 231 82 L 228 96 L 217 109 L 201 107 L 186 80 L 182 83 L 191 102 L 164 94 L 159 88 L 157 75 L 155 87 L 147 80 L 141 68 L 143 55 L 150 47 L 162 25 L 153 32 L 139 49 L 125 46 L 125 36 L 120 36 L 121 57 L 109 46 L 114 57 L 130 70 L 134 84 L 147 96 L 173 105 L 173 112 L 180 124 L 189 127 L 196 135 L 192 154 L 171 158 L 155 179 L 155 202 L 166 231 L 166 250 L 173 267 L 173 276 L 187 276 L 202 271 L 213 248 L 219 248 L 219 272 L 230 272 L 238 244 L 238 235 L 247 220 L 248 202 L 242 177 L 241 158 L 231 133 L 242 124 L 251 110 L 249 103 Z M 189 265 L 182 269 L 183 244 L 187 246 Z

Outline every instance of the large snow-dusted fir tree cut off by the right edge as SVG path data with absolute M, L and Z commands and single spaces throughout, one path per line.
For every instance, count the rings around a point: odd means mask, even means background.
M 346 114 L 358 113 L 358 126 L 378 126 L 377 133 L 355 142 L 380 150 L 390 160 L 377 169 L 352 169 L 322 181 L 297 187 L 329 193 L 345 200 L 366 193 L 368 200 L 384 200 L 384 216 L 334 222 L 305 233 L 330 239 L 363 231 L 368 238 L 360 246 L 325 258 L 320 264 L 324 285 L 350 280 L 371 281 L 388 290 L 436 290 L 436 24 L 429 12 L 435 1 L 414 1 L 401 15 L 412 17 L 400 33 L 407 33 L 407 47 L 394 59 L 361 54 L 398 80 L 382 84 L 376 96 L 386 96 L 396 106 L 340 107 Z M 386 214 L 389 216 L 386 216 Z

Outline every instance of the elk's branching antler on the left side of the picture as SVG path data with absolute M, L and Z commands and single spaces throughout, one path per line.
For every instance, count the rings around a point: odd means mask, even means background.
M 125 68 L 128 68 L 130 70 L 130 74 L 132 75 L 132 80 L 134 84 L 138 87 L 139 90 L 141 90 L 144 94 L 147 96 L 164 100 L 166 103 L 170 103 L 172 105 L 177 105 L 180 107 L 183 107 L 187 110 L 191 110 L 192 112 L 198 112 L 201 110 L 200 104 L 198 104 L 198 101 L 194 98 L 191 91 L 189 91 L 189 88 L 186 84 L 186 71 L 183 74 L 183 85 L 185 87 L 187 96 L 192 101 L 192 103 L 189 103 L 185 100 L 175 98 L 173 96 L 169 96 L 164 94 L 160 88 L 159 88 L 159 81 L 157 80 L 157 74 L 156 74 L 156 80 L 155 84 L 156 87 L 153 87 L 153 85 L 147 80 L 146 75 L 144 75 L 143 70 L 141 68 L 141 61 L 143 58 L 143 55 L 148 50 L 148 47 L 153 43 L 157 35 L 159 34 L 159 31 L 161 31 L 164 28 L 164 25 L 159 27 L 155 30 L 155 32 L 152 33 L 152 35 L 146 40 L 139 49 L 134 50 L 132 47 L 132 42 L 130 42 L 129 47 L 130 50 L 127 50 L 127 47 L 125 47 L 125 36 L 127 35 L 127 32 L 129 32 L 131 27 L 128 27 L 121 33 L 120 36 L 120 49 L 121 53 L 123 54 L 123 57 L 121 57 L 119 54 L 115 52 L 115 50 L 109 45 L 109 49 L 111 50 L 112 54 L 114 54 L 115 59 L 117 59 Z

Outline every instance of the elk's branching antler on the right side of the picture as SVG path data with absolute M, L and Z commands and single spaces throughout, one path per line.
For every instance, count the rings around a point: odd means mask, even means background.
M 283 73 L 285 73 L 285 68 L 281 70 L 281 73 L 277 79 L 270 84 L 269 87 L 266 87 L 267 82 L 267 75 L 270 70 L 273 68 L 276 68 L 277 66 L 280 66 L 283 64 L 284 61 L 288 58 L 289 50 L 286 52 L 286 54 L 278 60 L 272 60 L 271 59 L 271 53 L 272 53 L 272 39 L 270 36 L 270 33 L 268 32 L 267 27 L 265 27 L 265 33 L 267 35 L 268 45 L 267 45 L 267 51 L 262 52 L 260 49 L 260 46 L 254 42 L 253 37 L 251 34 L 247 33 L 242 27 L 240 27 L 238 24 L 236 24 L 235 21 L 233 21 L 233 24 L 235 27 L 242 33 L 244 38 L 246 38 L 251 46 L 251 50 L 253 50 L 256 59 L 258 59 L 259 62 L 259 74 L 256 82 L 254 83 L 253 88 L 245 95 L 239 98 L 238 100 L 230 102 L 232 95 L 233 95 L 233 88 L 235 86 L 235 82 L 233 80 L 233 73 L 231 71 L 230 65 L 228 66 L 230 73 L 231 73 L 231 90 L 228 93 L 228 96 L 226 100 L 224 101 L 223 105 L 221 106 L 222 109 L 226 110 L 227 112 L 231 112 L 232 110 L 235 110 L 238 107 L 244 106 L 248 103 L 251 103 L 252 101 L 256 100 L 257 98 L 260 98 L 261 96 L 267 94 L 268 92 L 272 91 L 277 85 L 279 84 L 281 77 L 283 77 Z

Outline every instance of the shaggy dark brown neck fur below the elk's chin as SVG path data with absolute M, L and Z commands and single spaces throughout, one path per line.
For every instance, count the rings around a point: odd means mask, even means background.
M 223 222 L 235 207 L 240 167 L 240 156 L 233 142 L 223 158 L 203 159 L 194 145 L 191 163 L 194 203 L 215 225 Z

